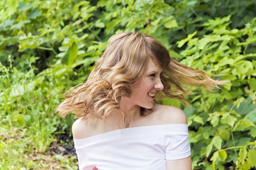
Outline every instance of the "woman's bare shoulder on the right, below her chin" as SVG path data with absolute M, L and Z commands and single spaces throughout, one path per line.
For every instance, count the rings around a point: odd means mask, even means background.
M 183 110 L 174 107 L 156 104 L 159 124 L 187 124 L 187 116 Z

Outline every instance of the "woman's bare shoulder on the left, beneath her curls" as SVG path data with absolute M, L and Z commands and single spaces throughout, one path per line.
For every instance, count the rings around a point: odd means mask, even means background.
M 72 125 L 72 134 L 74 139 L 82 139 L 93 136 L 95 133 L 95 127 L 93 123 L 88 123 L 81 118 L 75 120 Z

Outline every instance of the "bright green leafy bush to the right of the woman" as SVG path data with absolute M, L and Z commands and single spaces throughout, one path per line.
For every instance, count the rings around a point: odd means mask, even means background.
M 247 54 L 247 48 L 255 46 L 256 18 L 243 29 L 231 29 L 230 17 L 209 19 L 202 24 L 204 29 L 211 31 L 209 34 L 197 37 L 197 32 L 194 32 L 177 44 L 179 48 L 186 45 L 180 51 L 184 56 L 181 60 L 183 64 L 230 80 L 228 85 L 223 85 L 222 90 L 215 93 L 202 89 L 199 95 L 190 96 L 197 110 L 197 116 L 188 120 L 192 123 L 191 128 L 197 129 L 190 132 L 192 148 L 197 145 L 192 151 L 195 155 L 200 153 L 200 157 L 210 157 L 212 169 L 222 169 L 220 167 L 225 166 L 225 160 L 236 163 L 236 169 L 250 169 L 254 163 L 247 151 L 254 153 L 256 144 L 251 142 L 256 137 L 256 90 L 250 82 L 254 82 L 256 65 L 254 58 L 248 56 L 256 55 L 255 51 Z M 201 123 L 199 117 L 206 120 L 203 126 L 197 124 Z M 209 129 L 209 126 L 214 128 Z M 202 160 L 197 163 L 199 161 Z

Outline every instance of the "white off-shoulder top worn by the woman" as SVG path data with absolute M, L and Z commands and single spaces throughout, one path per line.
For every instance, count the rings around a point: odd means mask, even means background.
M 74 143 L 79 170 L 166 170 L 166 160 L 191 154 L 187 124 L 119 129 Z

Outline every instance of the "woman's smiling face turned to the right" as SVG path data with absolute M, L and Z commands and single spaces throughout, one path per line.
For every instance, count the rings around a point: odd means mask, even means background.
M 143 77 L 133 86 L 130 99 L 134 104 L 147 109 L 153 107 L 156 93 L 163 89 L 161 72 L 159 64 L 150 59 Z

